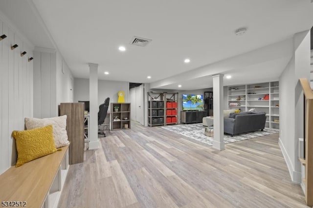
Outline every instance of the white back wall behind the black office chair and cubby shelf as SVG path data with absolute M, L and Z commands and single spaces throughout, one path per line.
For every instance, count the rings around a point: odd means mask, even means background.
M 130 102 L 128 82 L 98 80 L 98 105 L 108 97 L 110 103 L 117 103 L 117 92 L 120 90 L 125 92 L 125 102 Z M 78 101 L 89 101 L 89 79 L 74 78 L 74 102 Z

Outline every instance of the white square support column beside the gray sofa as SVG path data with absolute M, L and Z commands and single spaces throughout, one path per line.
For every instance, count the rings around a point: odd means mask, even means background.
M 223 74 L 213 75 L 213 126 L 214 141 L 213 147 L 224 150 L 224 117 L 223 117 Z

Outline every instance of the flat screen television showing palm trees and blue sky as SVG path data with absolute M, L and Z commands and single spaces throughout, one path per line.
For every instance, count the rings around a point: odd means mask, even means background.
M 203 95 L 182 94 L 182 110 L 203 110 Z

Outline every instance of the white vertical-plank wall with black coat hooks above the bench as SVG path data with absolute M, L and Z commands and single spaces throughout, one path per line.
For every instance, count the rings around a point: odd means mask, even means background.
M 0 174 L 16 163 L 13 130 L 24 130 L 24 118 L 33 115 L 33 46 L 0 19 Z M 15 50 L 11 45 L 18 44 Z M 21 57 L 20 53 L 27 54 Z

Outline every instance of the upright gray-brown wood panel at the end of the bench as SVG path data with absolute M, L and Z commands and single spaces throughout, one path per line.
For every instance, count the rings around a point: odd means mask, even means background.
M 69 165 L 84 162 L 84 104 L 61 103 L 60 115 L 67 115 L 67 137 L 70 142 Z

